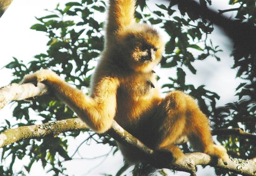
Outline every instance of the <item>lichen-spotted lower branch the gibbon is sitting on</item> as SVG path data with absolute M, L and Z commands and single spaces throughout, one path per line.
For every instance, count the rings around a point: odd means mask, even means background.
M 60 133 L 69 132 L 74 130 L 86 130 L 88 127 L 81 119 L 65 119 L 60 121 L 49 122 L 41 125 L 33 126 L 20 126 L 18 128 L 9 129 L 0 134 L 0 147 L 5 145 L 18 142 L 20 140 L 32 139 L 32 138 L 45 138 L 48 136 L 58 136 Z M 132 145 L 137 150 L 140 150 L 149 159 L 150 163 L 159 167 L 159 162 L 165 160 L 165 156 L 161 156 L 157 151 L 149 149 L 147 146 L 143 145 L 141 141 L 133 137 L 127 131 L 125 131 L 116 122 L 113 123 L 112 128 L 108 131 L 111 137 L 115 138 L 118 142 L 123 145 Z M 161 158 L 161 159 L 160 159 Z M 171 161 L 170 161 L 171 162 Z M 224 165 L 222 161 L 216 161 L 209 157 L 205 153 L 189 153 L 186 154 L 185 159 L 173 165 L 171 163 L 162 163 L 161 167 L 180 170 L 193 173 L 195 172 L 196 165 L 211 165 L 214 167 L 226 169 L 238 174 L 255 176 L 256 172 L 256 161 L 253 160 L 241 160 L 241 159 L 231 159 L 228 165 Z M 156 164 L 158 163 L 158 164 Z

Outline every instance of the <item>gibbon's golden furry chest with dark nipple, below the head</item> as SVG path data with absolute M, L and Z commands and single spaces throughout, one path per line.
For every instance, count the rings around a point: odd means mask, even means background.
M 158 95 L 154 73 L 128 75 L 121 79 L 115 120 L 126 130 L 133 128 L 139 119 L 151 113 Z

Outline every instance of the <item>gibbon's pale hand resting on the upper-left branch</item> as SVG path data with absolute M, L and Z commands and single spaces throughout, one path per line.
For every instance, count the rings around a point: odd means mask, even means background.
M 51 80 L 52 78 L 57 78 L 58 75 L 51 70 L 48 69 L 41 69 L 33 74 L 25 75 L 23 80 L 20 83 L 27 83 L 27 82 L 43 82 L 46 80 Z

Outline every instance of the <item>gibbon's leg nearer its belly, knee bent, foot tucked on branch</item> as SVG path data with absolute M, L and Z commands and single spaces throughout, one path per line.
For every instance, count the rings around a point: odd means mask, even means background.
M 179 162 L 184 157 L 181 149 L 175 146 L 185 131 L 186 102 L 180 91 L 169 93 L 156 107 L 152 126 L 156 126 L 155 138 L 158 140 L 156 150 L 171 151 L 173 162 Z

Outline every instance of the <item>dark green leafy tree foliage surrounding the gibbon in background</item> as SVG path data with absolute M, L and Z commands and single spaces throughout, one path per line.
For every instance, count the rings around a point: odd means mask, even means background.
M 255 52 L 247 50 L 241 53 L 240 46 L 235 41 L 232 53 L 234 65 L 230 69 L 236 69 L 236 76 L 242 78 L 243 82 L 234 92 L 234 96 L 237 96 L 236 102 L 216 107 L 216 101 L 220 98 L 218 94 L 207 90 L 204 85 L 195 87 L 186 83 L 187 72 L 196 75 L 195 61 L 205 62 L 207 58 L 217 61 L 228 59 L 218 57 L 222 49 L 214 45 L 209 38 L 209 34 L 215 30 L 216 26 L 203 18 L 200 12 L 198 14 L 189 11 L 182 4 L 177 6 L 177 0 L 171 0 L 168 4 L 156 4 L 154 9 L 148 8 L 148 3 L 154 3 L 154 1 L 137 0 L 139 7 L 135 13 L 136 20 L 158 25 L 168 34 L 170 38 L 166 44 L 161 67 L 176 69 L 176 76 L 169 77 L 169 81 L 163 87 L 168 90 L 182 90 L 195 97 L 202 111 L 209 116 L 213 129 L 240 127 L 245 132 L 255 133 Z M 211 0 L 200 0 L 200 4 L 206 8 L 211 5 Z M 246 23 L 248 26 L 256 25 L 254 0 L 230 0 L 229 4 L 239 5 L 234 9 L 238 23 Z M 15 76 L 12 82 L 20 82 L 25 74 L 38 69 L 50 68 L 87 94 L 90 76 L 103 50 L 104 20 L 99 17 L 105 16 L 105 9 L 104 0 L 78 0 L 69 2 L 65 6 L 58 4 L 53 11 L 50 11 L 50 15 L 37 18 L 38 23 L 31 26 L 31 29 L 47 35 L 48 49 L 34 56 L 28 64 L 13 58 L 13 61 L 6 65 L 6 68 L 12 69 Z M 220 11 L 220 13 L 226 13 L 226 11 Z M 13 118 L 17 119 L 17 123 L 11 124 L 6 120 L 6 124 L 1 125 L 1 132 L 14 126 L 28 126 L 38 122 L 39 119 L 31 118 L 32 113 L 40 116 L 42 123 L 76 117 L 76 114 L 60 101 L 51 96 L 43 96 L 34 101 L 15 103 Z M 114 153 L 117 150 L 115 140 L 108 135 L 95 134 L 89 130 L 84 132 L 89 133 L 87 140 L 98 136 L 98 143 L 112 146 Z M 79 134 L 80 131 L 66 132 L 55 138 L 25 140 L 3 147 L 1 161 L 9 157 L 11 163 L 1 166 L 0 173 L 14 174 L 15 160 L 28 156 L 30 163 L 25 166 L 28 172 L 33 163 L 40 160 L 43 168 L 46 165 L 51 166 L 49 171 L 54 175 L 65 174 L 61 161 L 72 159 L 72 156 L 67 154 L 67 136 L 75 138 Z M 227 148 L 231 157 L 249 159 L 256 156 L 256 146 L 252 140 L 236 135 L 218 135 L 217 140 Z M 182 149 L 185 152 L 190 151 L 186 144 L 182 145 Z M 159 173 L 164 175 L 163 171 Z M 225 174 L 225 171 L 216 170 L 216 173 Z

